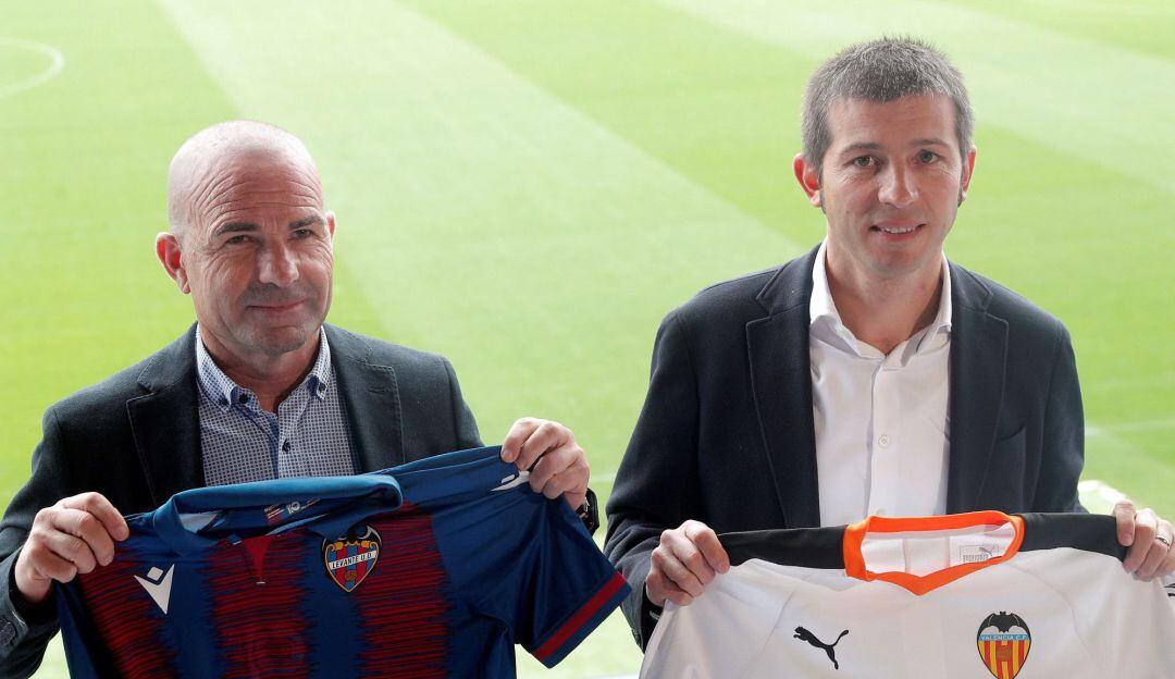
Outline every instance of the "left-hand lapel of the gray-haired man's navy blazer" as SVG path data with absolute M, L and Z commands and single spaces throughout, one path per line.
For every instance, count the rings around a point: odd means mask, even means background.
M 808 358 L 814 260 L 813 249 L 783 267 L 757 296 L 768 316 L 746 325 L 754 406 L 790 529 L 820 525 Z

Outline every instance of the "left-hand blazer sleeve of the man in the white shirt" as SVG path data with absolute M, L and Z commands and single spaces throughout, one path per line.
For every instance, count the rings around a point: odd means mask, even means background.
M 622 609 L 642 648 L 656 626 L 656 611 L 644 594 L 650 553 L 662 531 L 704 516 L 697 383 L 687 332 L 676 311 L 657 332 L 649 392 L 607 502 L 604 553 L 632 586 Z

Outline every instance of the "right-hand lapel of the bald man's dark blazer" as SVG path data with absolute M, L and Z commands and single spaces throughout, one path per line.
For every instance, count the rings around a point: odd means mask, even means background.
M 400 390 L 390 365 L 370 362 L 363 338 L 327 325 L 331 364 L 351 430 L 355 470 L 376 471 L 405 462 Z

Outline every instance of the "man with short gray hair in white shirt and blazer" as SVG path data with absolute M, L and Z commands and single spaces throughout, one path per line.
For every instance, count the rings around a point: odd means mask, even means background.
M 942 253 L 975 164 L 958 69 L 916 40 L 855 45 L 812 75 L 803 117 L 793 170 L 824 242 L 657 334 L 605 544 L 642 646 L 665 601 L 730 567 L 716 533 L 1082 510 L 1068 332 Z M 1128 571 L 1175 571 L 1169 522 L 1114 513 Z

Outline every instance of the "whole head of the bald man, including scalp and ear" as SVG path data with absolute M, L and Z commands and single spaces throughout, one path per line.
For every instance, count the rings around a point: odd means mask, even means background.
M 172 229 L 155 254 L 192 295 L 208 351 L 237 384 L 293 389 L 314 362 L 334 271 L 335 216 L 310 153 L 271 125 L 222 122 L 180 147 L 167 181 Z

